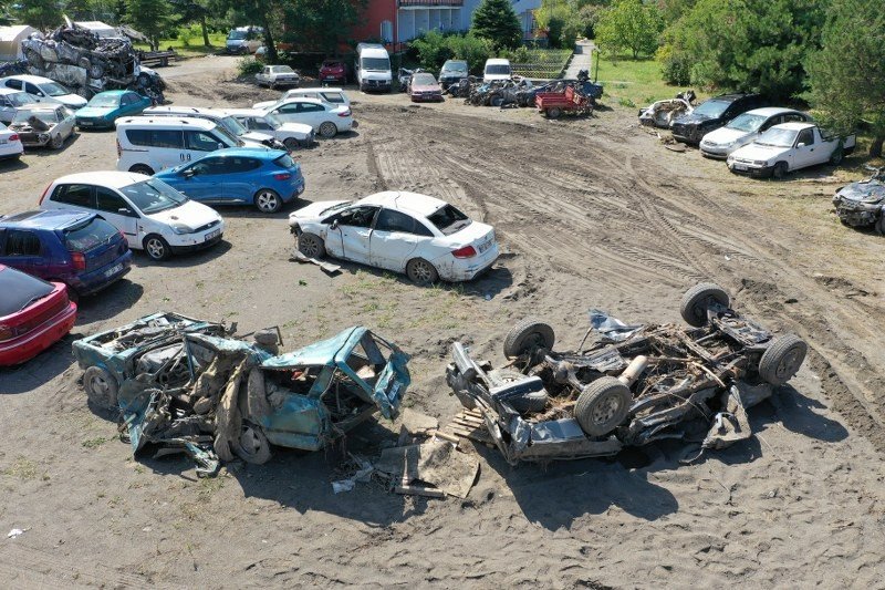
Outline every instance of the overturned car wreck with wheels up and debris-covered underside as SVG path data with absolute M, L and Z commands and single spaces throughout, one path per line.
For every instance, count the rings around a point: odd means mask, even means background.
M 552 350 L 550 325 L 524 320 L 504 339 L 510 369 L 491 370 L 456 342 L 446 379 L 511 464 L 614 455 L 663 438 L 702 448 L 749 438 L 747 408 L 799 371 L 806 344 L 742 318 L 710 283 L 686 292 L 681 315 L 693 328 L 626 325 L 593 310 L 593 343 L 569 352 Z

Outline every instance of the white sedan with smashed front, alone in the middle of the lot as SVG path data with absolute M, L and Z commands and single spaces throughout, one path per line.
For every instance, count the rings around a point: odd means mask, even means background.
M 309 205 L 289 216 L 298 249 L 405 272 L 418 284 L 468 281 L 498 259 L 494 228 L 438 198 L 377 193 Z

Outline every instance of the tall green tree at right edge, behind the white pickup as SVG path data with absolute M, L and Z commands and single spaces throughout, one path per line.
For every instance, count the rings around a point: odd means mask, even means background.
M 812 104 L 840 131 L 872 124 L 871 156 L 885 143 L 885 13 L 882 0 L 840 0 L 830 7 L 822 49 L 806 60 Z

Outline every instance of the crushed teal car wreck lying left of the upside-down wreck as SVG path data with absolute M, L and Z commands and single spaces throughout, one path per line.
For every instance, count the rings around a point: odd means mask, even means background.
M 157 313 L 73 348 L 91 403 L 118 408 L 134 454 L 184 451 L 201 474 L 219 459 L 266 463 L 271 445 L 317 451 L 375 412 L 397 416 L 410 380 L 394 344 L 360 327 L 285 354 L 280 340 Z

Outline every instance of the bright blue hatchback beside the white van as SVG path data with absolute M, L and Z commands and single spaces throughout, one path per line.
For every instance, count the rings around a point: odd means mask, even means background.
M 301 166 L 280 149 L 218 149 L 154 177 L 200 203 L 254 205 L 261 213 L 277 213 L 304 192 Z

